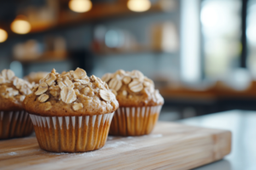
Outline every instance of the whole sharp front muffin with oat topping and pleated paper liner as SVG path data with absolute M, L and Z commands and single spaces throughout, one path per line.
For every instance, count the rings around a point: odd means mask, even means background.
M 113 112 L 119 107 L 106 82 L 82 69 L 51 71 L 23 102 L 38 144 L 52 152 L 84 152 L 102 148 Z

